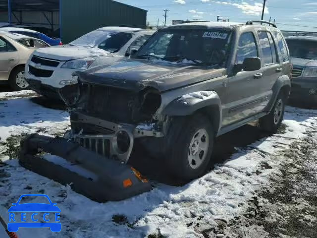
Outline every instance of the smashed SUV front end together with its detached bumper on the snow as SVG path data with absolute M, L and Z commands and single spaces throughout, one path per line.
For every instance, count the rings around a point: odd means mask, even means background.
M 149 191 L 150 183 L 127 165 L 135 139 L 163 137 L 164 122 L 155 115 L 161 104 L 153 88 L 139 92 L 83 82 L 59 92 L 70 113 L 63 138 L 34 134 L 21 142 L 22 166 L 99 202 L 122 200 Z M 39 153 L 63 158 L 68 167 Z M 93 176 L 71 169 L 80 166 Z M 93 178 L 92 178 L 93 177 Z

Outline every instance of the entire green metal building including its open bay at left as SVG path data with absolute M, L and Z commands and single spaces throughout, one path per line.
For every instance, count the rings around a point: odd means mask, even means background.
M 0 0 L 0 22 L 57 31 L 62 42 L 103 26 L 146 27 L 147 11 L 114 0 Z

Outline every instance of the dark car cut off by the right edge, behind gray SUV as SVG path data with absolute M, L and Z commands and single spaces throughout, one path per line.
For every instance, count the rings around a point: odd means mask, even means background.
M 285 38 L 293 64 L 290 101 L 294 104 L 317 105 L 317 37 Z

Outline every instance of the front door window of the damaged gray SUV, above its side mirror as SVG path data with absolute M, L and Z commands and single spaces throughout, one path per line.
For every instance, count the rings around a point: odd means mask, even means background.
M 252 32 L 245 32 L 240 36 L 236 56 L 236 64 L 242 64 L 244 59 L 259 57 L 256 40 Z

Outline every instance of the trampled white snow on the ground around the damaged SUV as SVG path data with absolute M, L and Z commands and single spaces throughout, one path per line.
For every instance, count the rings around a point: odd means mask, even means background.
M 33 133 L 39 126 L 45 126 L 45 133 L 53 135 L 69 123 L 66 114 L 33 104 L 29 98 L 0 101 L 0 112 L 5 116 L 0 118 L 3 139 Z M 6 175 L 0 177 L 0 204 L 8 209 L 21 194 L 44 193 L 61 209 L 60 233 L 49 229 L 20 229 L 17 234 L 21 238 L 138 238 L 150 234 L 203 238 L 204 231 L 214 229 L 219 222 L 227 223 L 242 215 L 254 191 L 268 185 L 271 175 L 280 174 L 278 168 L 284 151 L 289 150 L 292 142 L 303 138 L 303 132 L 317 129 L 317 110 L 288 107 L 283 123 L 285 133 L 237 148 L 229 161 L 215 166 L 200 179 L 184 186 L 154 183 L 150 192 L 120 202 L 94 202 L 69 186 L 22 168 L 17 159 L 2 156 L 7 165 L 0 167 Z M 114 215 L 123 216 L 115 223 L 113 219 L 120 216 Z

